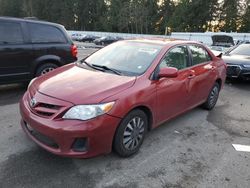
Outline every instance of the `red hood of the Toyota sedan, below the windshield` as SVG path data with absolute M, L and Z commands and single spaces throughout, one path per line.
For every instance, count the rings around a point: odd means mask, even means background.
M 97 104 L 132 87 L 135 80 L 136 77 L 92 71 L 71 64 L 39 77 L 30 87 L 73 104 Z

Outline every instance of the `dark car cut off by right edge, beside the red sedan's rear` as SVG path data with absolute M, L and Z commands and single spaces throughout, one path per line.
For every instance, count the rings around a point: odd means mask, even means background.
M 223 55 L 227 77 L 250 80 L 250 44 L 240 44 Z

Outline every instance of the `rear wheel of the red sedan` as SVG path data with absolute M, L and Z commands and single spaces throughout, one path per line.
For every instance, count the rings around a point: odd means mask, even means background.
M 220 85 L 216 82 L 208 95 L 207 101 L 202 105 L 202 107 L 206 110 L 212 110 L 217 103 L 219 94 Z

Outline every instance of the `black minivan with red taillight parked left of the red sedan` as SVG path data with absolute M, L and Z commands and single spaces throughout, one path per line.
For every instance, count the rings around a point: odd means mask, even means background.
M 62 25 L 0 17 L 0 84 L 26 82 L 76 60 Z

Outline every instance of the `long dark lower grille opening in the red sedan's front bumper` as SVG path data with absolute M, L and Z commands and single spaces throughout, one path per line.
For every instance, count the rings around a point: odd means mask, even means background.
M 40 132 L 38 132 L 37 130 L 35 129 L 31 129 L 29 128 L 30 126 L 28 126 L 27 124 L 26 125 L 26 129 L 30 132 L 30 134 L 35 138 L 37 139 L 39 142 L 45 144 L 46 146 L 49 146 L 51 148 L 54 148 L 54 149 L 58 149 L 59 146 L 58 144 L 51 138 L 41 134 Z

